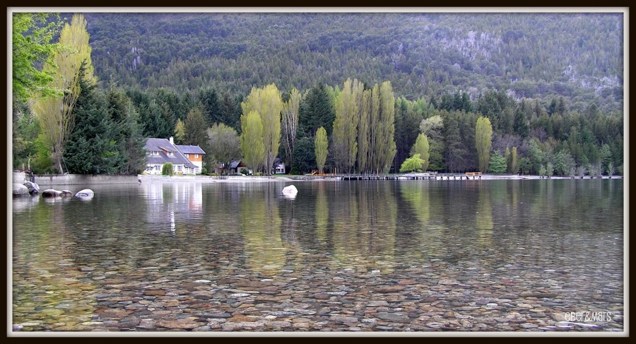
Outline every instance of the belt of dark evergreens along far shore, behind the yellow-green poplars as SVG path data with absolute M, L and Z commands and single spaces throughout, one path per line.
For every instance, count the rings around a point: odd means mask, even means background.
M 282 93 L 287 101 L 289 92 Z M 288 160 L 283 145 L 278 152 L 279 157 L 293 166 L 291 172 L 295 174 L 317 169 L 314 137 L 321 126 L 331 143 L 341 86 L 317 83 L 300 93 L 298 129 L 293 154 L 289 154 L 293 162 Z M 146 137 L 175 136 L 178 144 L 199 145 L 206 150 L 206 129 L 213 124 L 225 124 L 241 134 L 241 102 L 245 97 L 247 94 L 233 95 L 211 87 L 187 92 L 122 88 L 114 84 L 107 88 L 83 88 L 64 161 L 71 173 L 125 174 L 143 170 L 144 155 L 140 148 Z M 546 106 L 539 100 L 516 101 L 504 91 L 495 90 L 487 90 L 474 100 L 461 92 L 444 93 L 431 100 L 394 96 L 395 155 L 389 170 L 379 172 L 399 171 L 420 133 L 428 136 L 430 143 L 428 170 L 478 170 L 475 131 L 479 116 L 487 117 L 492 124 L 493 155 L 517 150 L 519 161 L 515 170 L 508 172 L 605 174 L 610 169 L 623 173 L 622 112 L 603 113 L 594 103 L 582 112 L 571 111 L 563 97 L 553 98 Z M 36 118 L 28 107 L 14 114 L 13 165 L 21 167 L 32 157 L 32 169 L 45 173 L 52 171 L 53 166 L 46 152 L 38 150 L 45 146 L 38 138 Z M 336 166 L 331 146 L 329 149 L 326 171 Z M 208 171 L 214 163 L 206 161 Z M 357 167 L 351 168 L 353 171 Z

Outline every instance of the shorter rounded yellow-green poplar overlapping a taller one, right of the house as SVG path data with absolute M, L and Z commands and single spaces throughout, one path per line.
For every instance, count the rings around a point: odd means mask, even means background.
M 241 153 L 245 164 L 256 174 L 265 153 L 263 122 L 256 111 L 241 116 Z

